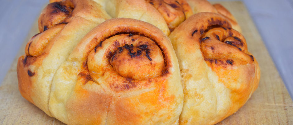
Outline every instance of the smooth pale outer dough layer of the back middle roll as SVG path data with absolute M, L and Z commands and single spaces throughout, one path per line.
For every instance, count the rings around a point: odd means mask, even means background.
M 132 18 L 151 23 L 161 29 L 166 35 L 170 34 L 170 30 L 166 21 L 146 0 L 94 0 L 101 4 L 103 8 L 113 18 Z

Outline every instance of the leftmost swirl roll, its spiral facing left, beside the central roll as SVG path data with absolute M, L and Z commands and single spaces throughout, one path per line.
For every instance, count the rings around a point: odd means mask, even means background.
M 19 91 L 49 116 L 53 76 L 79 40 L 99 23 L 110 18 L 91 0 L 50 3 L 39 17 L 40 33 L 27 43 L 18 59 Z

